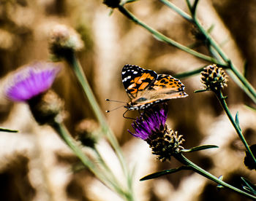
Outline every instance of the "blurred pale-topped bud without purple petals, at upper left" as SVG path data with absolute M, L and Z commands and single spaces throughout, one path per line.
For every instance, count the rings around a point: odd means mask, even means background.
M 80 35 L 67 25 L 56 25 L 49 36 L 50 52 L 56 58 L 67 58 L 70 53 L 83 48 Z

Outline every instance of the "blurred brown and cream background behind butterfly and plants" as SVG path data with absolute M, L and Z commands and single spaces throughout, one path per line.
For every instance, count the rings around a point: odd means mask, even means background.
M 173 0 L 187 10 L 185 1 Z M 158 31 L 184 45 L 195 44 L 193 27 L 159 1 L 136 1 L 127 8 Z M 246 77 L 256 86 L 256 1 L 201 0 L 197 15 L 205 28 L 214 25 L 211 35 L 222 45 L 240 71 L 247 64 Z M 114 109 L 118 103 L 105 98 L 129 101 L 121 83 L 121 68 L 135 64 L 158 74 L 180 74 L 206 66 L 203 60 L 157 41 L 132 21 L 95 0 L 1 0 L 0 1 L 0 119 L 1 127 L 19 130 L 0 133 L 0 197 L 1 200 L 121 200 L 110 192 L 88 170 L 73 172 L 77 157 L 50 127 L 39 127 L 25 103 L 11 103 L 4 96 L 4 86 L 11 71 L 35 60 L 49 60 L 48 34 L 54 25 L 64 24 L 80 33 L 85 48 L 78 58 L 102 111 Z M 203 45 L 195 48 L 208 54 Z M 95 117 L 80 85 L 67 63 L 53 84 L 65 101 L 66 125 L 73 133 L 80 121 Z M 219 149 L 187 155 L 197 165 L 238 188 L 240 176 L 256 183 L 255 170 L 244 166 L 244 146 L 222 111 L 212 92 L 194 94 L 202 89 L 200 76 L 181 79 L 189 97 L 169 101 L 167 124 L 184 135 L 184 147 L 215 144 Z M 256 143 L 256 114 L 244 92 L 229 79 L 224 90 L 227 103 L 249 144 Z M 124 150 L 129 167 L 135 167 L 134 186 L 137 200 L 246 200 L 190 171 L 162 176 L 151 181 L 140 178 L 157 170 L 178 167 L 175 159 L 159 162 L 146 142 L 133 138 L 132 120 L 124 119 L 124 109 L 106 114 Z M 130 111 L 128 117 L 138 113 Z M 92 124 L 94 125 L 94 124 Z M 113 170 L 120 168 L 110 146 L 99 141 L 104 157 Z

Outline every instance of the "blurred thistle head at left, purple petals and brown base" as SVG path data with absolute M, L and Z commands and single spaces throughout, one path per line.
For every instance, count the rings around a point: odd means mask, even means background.
M 31 113 L 40 125 L 52 122 L 60 117 L 64 107 L 58 95 L 49 90 L 59 71 L 59 66 L 53 63 L 25 66 L 12 75 L 6 96 L 10 101 L 29 103 Z

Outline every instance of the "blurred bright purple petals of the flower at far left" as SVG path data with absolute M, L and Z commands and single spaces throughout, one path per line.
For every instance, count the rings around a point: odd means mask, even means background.
M 48 90 L 60 68 L 53 63 L 39 62 L 26 66 L 12 77 L 6 95 L 11 101 L 29 101 Z

